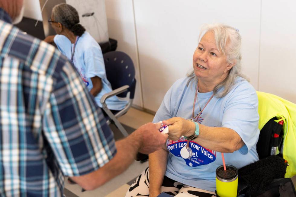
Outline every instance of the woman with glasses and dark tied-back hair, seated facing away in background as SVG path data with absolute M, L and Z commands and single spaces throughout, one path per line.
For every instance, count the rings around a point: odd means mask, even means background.
M 62 3 L 54 6 L 49 22 L 57 35 L 48 36 L 44 41 L 54 42 L 72 62 L 96 103 L 102 107 L 101 97 L 111 92 L 112 88 L 106 77 L 101 47 L 79 24 L 78 12 L 71 5 Z M 123 109 L 127 101 L 113 96 L 106 100 L 106 104 L 114 112 Z

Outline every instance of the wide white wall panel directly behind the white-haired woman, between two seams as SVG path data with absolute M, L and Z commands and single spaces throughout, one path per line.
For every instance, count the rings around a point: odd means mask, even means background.
M 192 66 L 199 28 L 220 22 L 242 36 L 243 70 L 258 89 L 260 1 L 134 1 L 146 109 L 157 111 L 169 87 Z

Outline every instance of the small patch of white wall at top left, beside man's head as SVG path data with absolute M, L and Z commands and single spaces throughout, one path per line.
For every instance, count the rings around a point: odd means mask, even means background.
M 42 21 L 39 0 L 24 0 L 24 17 Z

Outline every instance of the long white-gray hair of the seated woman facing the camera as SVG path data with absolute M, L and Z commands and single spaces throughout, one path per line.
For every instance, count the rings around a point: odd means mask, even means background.
M 214 96 L 218 98 L 224 97 L 234 85 L 237 77 L 242 77 L 244 80 L 249 81 L 249 79 L 245 75 L 243 75 L 241 71 L 241 37 L 237 29 L 228 25 L 205 24 L 201 28 L 198 41 L 200 41 L 204 34 L 208 31 L 212 31 L 214 33 L 216 46 L 219 52 L 222 52 L 224 55 L 226 55 L 227 62 L 235 64 L 230 69 L 228 76 L 214 87 Z M 198 80 L 194 73 L 194 70 L 190 71 L 187 76 L 190 78 L 190 80 L 194 78 Z

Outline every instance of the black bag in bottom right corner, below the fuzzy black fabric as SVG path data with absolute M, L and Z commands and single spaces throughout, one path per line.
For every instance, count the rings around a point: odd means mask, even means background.
M 290 178 L 274 179 L 263 190 L 257 192 L 256 197 L 296 197 L 296 191 Z

